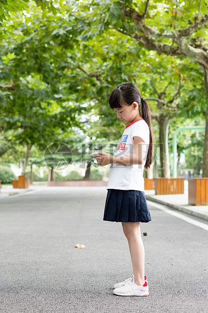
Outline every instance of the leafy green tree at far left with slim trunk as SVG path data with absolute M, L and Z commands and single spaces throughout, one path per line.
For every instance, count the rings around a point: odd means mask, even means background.
M 65 78 L 58 68 L 60 48 L 42 48 L 42 37 L 33 31 L 14 16 L 5 22 L 0 48 L 0 132 L 16 130 L 13 141 L 27 146 L 23 174 L 34 144 L 45 149 L 70 126 L 82 127 L 79 108 L 60 92 Z

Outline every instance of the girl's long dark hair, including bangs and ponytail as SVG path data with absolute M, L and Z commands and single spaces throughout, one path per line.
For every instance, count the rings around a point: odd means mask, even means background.
M 138 103 L 138 110 L 150 129 L 150 145 L 147 154 L 145 169 L 148 170 L 153 162 L 154 134 L 151 125 L 151 110 L 145 99 L 142 98 L 140 90 L 131 83 L 121 83 L 110 95 L 109 105 L 111 109 L 121 108 L 121 105 L 131 106 L 133 102 Z

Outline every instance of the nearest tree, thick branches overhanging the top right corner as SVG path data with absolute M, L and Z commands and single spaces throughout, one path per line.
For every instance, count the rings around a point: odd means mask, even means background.
M 203 176 L 208 177 L 208 54 L 207 54 L 207 5 L 199 0 L 161 3 L 123 0 L 89 2 L 82 7 L 78 2 L 77 11 L 83 10 L 83 19 L 91 24 L 88 35 L 113 28 L 134 39 L 139 46 L 160 54 L 188 57 L 203 69 L 206 94 L 206 130 L 203 145 Z M 90 9 L 90 10 L 89 10 Z M 89 10 L 89 11 L 88 11 Z M 192 18 L 190 18 L 190 16 Z M 94 27 L 93 27 L 93 26 Z

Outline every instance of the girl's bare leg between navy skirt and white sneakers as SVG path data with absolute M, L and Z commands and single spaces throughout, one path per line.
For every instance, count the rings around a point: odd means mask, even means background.
M 122 222 L 122 227 L 128 240 L 135 284 L 143 286 L 145 283 L 145 249 L 141 237 L 140 222 Z

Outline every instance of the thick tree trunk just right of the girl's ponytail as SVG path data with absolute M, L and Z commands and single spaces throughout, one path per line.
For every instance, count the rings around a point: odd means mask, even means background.
M 159 139 L 160 139 L 160 164 L 161 164 L 161 177 L 170 178 L 170 162 L 168 150 L 168 128 L 170 117 L 161 114 L 157 117 L 159 123 Z

